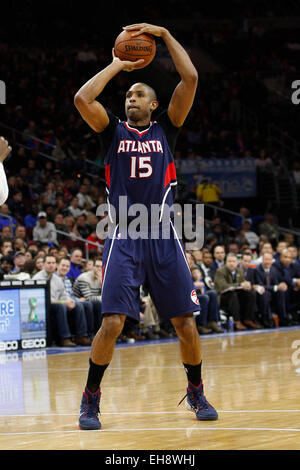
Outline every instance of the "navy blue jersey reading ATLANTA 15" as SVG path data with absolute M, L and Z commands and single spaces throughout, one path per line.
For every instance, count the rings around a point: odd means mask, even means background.
M 101 138 L 108 202 L 117 218 L 120 196 L 127 196 L 127 208 L 136 203 L 149 211 L 152 204 L 158 204 L 161 211 L 165 204 L 172 206 L 171 188 L 177 184 L 172 151 L 179 128 L 166 111 L 146 127 L 131 127 L 110 112 L 108 116 L 110 123 Z

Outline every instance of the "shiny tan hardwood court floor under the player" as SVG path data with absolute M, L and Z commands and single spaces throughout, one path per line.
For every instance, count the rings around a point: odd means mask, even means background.
M 2 356 L 0 449 L 300 449 L 300 329 L 214 335 L 202 348 L 218 421 L 177 407 L 186 389 L 177 341 L 136 343 L 116 349 L 104 376 L 101 431 L 77 427 L 88 349 Z

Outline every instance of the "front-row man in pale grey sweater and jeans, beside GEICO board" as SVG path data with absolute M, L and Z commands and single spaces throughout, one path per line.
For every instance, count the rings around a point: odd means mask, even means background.
M 74 347 L 81 344 L 83 338 L 87 339 L 87 325 L 83 308 L 68 296 L 64 283 L 55 273 L 56 259 L 46 255 L 44 268 L 35 274 L 32 279 L 50 280 L 50 318 L 55 321 L 58 344 L 62 347 Z M 71 341 L 71 330 L 68 317 L 72 318 L 75 328 L 76 343 Z

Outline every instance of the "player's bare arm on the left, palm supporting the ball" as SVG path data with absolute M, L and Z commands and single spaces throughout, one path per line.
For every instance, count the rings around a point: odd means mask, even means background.
M 114 50 L 112 54 L 112 62 L 85 83 L 74 98 L 74 104 L 82 118 L 96 132 L 102 132 L 109 124 L 107 112 L 102 104 L 96 101 L 96 98 L 102 93 L 107 83 L 121 70 L 131 72 L 144 61 L 143 59 L 136 62 L 120 60 L 115 56 Z

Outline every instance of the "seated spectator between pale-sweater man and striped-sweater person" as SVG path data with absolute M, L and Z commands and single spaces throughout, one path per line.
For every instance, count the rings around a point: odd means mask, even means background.
M 92 302 L 86 301 L 84 297 L 78 298 L 74 295 L 72 282 L 70 278 L 67 277 L 67 273 L 70 270 L 70 264 L 71 262 L 69 258 L 61 258 L 57 264 L 56 273 L 62 279 L 68 296 L 73 299 L 76 303 L 80 302 L 80 304 L 82 305 L 86 317 L 87 334 L 89 338 L 93 338 L 94 335 L 97 333 L 97 331 L 94 331 L 94 306 Z M 84 346 L 88 346 L 87 338 L 84 338 L 83 343 Z M 89 344 L 91 344 L 91 342 L 89 342 Z

